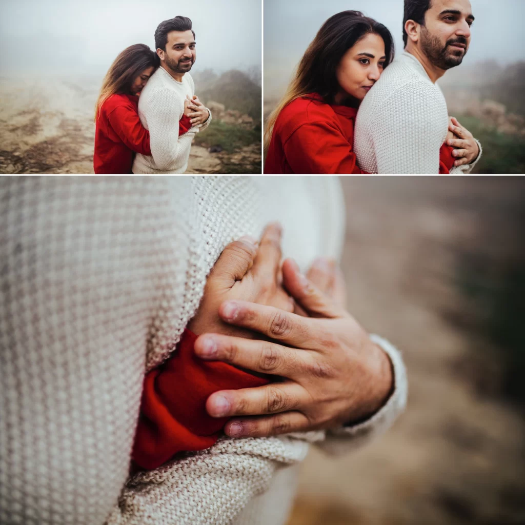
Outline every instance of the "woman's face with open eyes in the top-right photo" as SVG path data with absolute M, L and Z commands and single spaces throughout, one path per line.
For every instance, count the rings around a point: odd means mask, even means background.
M 381 76 L 385 60 L 385 43 L 379 35 L 372 33 L 346 51 L 337 68 L 341 91 L 336 100 L 341 101 L 347 93 L 363 100 Z

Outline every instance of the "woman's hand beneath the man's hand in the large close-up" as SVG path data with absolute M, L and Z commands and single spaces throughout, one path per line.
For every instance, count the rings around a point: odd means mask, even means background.
M 206 280 L 204 296 L 187 328 L 195 334 L 218 332 L 253 339 L 253 331 L 233 327 L 218 314 L 223 301 L 242 299 L 293 311 L 293 300 L 281 280 L 281 227 L 270 224 L 260 243 L 242 237 L 230 243 L 220 254 Z

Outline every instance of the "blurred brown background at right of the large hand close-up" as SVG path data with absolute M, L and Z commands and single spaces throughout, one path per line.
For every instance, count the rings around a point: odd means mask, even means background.
M 406 412 L 312 447 L 288 525 L 525 523 L 525 179 L 342 177 L 349 311 L 402 350 Z

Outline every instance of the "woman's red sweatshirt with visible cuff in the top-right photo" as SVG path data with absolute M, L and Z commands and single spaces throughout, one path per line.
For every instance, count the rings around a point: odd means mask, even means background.
M 265 173 L 366 173 L 353 151 L 356 109 L 327 104 L 317 93 L 290 102 L 272 132 Z M 439 173 L 454 165 L 451 146 L 440 150 Z

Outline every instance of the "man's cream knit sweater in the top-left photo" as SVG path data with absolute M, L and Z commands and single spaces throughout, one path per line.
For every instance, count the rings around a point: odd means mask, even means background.
M 139 98 L 139 117 L 150 132 L 150 155 L 137 153 L 133 173 L 184 173 L 188 166 L 193 138 L 208 127 L 212 113 L 204 124 L 193 126 L 179 137 L 178 121 L 184 113 L 186 95 L 193 97 L 195 86 L 189 73 L 177 82 L 164 68 L 157 69 L 144 86 Z

